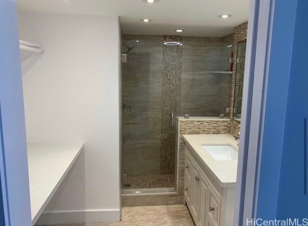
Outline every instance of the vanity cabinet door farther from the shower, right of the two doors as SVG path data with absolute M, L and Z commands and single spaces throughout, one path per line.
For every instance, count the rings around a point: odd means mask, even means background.
M 207 220 L 207 188 L 208 182 L 205 177 L 200 173 L 200 181 L 199 181 L 199 195 L 198 195 L 198 226 L 206 226 Z

